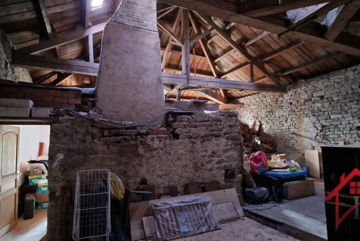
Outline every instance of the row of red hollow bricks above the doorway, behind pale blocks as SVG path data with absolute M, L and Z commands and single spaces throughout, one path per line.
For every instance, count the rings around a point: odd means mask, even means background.
M 1 84 L 0 98 L 30 99 L 34 107 L 81 108 L 81 92 L 71 90 Z

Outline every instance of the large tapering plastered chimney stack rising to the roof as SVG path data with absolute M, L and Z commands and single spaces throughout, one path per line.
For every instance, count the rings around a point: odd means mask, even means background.
M 164 108 L 156 0 L 123 0 L 107 23 L 96 106 L 106 119 L 139 124 Z

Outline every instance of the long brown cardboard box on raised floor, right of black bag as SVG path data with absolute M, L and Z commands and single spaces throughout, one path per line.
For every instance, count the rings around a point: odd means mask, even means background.
M 313 179 L 285 182 L 283 194 L 286 199 L 302 198 L 315 195 L 315 184 Z

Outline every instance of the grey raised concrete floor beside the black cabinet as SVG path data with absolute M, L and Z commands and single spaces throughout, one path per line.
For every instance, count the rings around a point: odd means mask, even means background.
M 288 233 L 300 240 L 327 240 L 324 182 L 315 180 L 315 195 L 276 205 L 248 205 L 243 208 L 247 217 Z M 270 209 L 267 209 L 270 208 Z M 261 210 L 266 209 L 266 210 Z

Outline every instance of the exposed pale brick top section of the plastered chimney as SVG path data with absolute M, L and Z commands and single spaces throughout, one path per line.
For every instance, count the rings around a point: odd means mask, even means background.
M 157 32 L 155 0 L 123 0 L 110 21 Z

